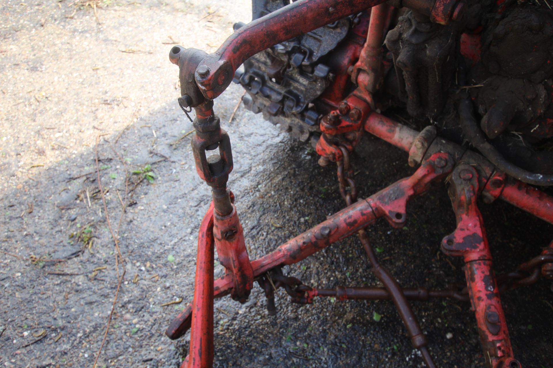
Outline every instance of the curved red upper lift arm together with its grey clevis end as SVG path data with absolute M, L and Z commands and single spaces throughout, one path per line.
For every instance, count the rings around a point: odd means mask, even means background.
M 213 54 L 174 46 L 169 59 L 180 68 L 181 96 L 192 108 L 205 99 L 213 100 L 227 89 L 234 72 L 247 58 L 384 2 L 299 0 L 239 28 Z

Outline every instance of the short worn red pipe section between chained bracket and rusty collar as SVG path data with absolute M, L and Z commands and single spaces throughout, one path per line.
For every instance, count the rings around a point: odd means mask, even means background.
M 378 113 L 369 115 L 364 129 L 406 152 L 411 150 L 416 136 L 419 135 L 418 131 Z

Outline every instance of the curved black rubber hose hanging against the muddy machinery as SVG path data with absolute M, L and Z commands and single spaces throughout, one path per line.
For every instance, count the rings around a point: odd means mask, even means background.
M 478 127 L 476 118 L 474 118 L 472 102 L 468 98 L 463 98 L 459 102 L 459 117 L 467 140 L 500 170 L 524 183 L 553 185 L 553 175 L 531 173 L 514 165 L 507 161 L 494 146 L 486 141 L 486 138 L 484 138 L 482 131 Z

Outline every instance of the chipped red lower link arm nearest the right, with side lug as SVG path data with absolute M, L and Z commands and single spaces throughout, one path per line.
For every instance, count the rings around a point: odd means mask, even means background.
M 513 358 L 507 322 L 499 298 L 486 229 L 477 206 L 478 173 L 469 164 L 458 165 L 451 174 L 448 194 L 457 218 L 457 228 L 442 240 L 442 251 L 462 256 L 472 309 L 486 364 L 494 368 L 521 368 Z

